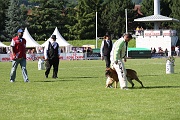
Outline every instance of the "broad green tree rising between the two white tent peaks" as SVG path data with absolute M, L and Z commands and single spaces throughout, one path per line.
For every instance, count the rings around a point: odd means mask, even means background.
M 31 3 L 38 5 L 33 6 L 31 14 L 28 15 L 30 31 L 34 33 L 36 40 L 49 38 L 55 27 L 63 33 L 66 22 L 66 0 L 31 0 Z

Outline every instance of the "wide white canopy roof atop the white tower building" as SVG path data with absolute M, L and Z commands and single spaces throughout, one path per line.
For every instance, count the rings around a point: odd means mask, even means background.
M 147 17 L 142 17 L 142 18 L 137 18 L 137 19 L 134 19 L 134 21 L 136 22 L 179 22 L 178 19 L 174 19 L 174 18 L 170 18 L 170 17 L 166 17 L 166 16 L 163 16 L 163 15 L 151 15 L 151 16 L 147 16 Z

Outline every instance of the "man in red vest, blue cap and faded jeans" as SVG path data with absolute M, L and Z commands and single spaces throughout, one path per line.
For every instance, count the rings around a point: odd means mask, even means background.
M 18 64 L 21 66 L 24 82 L 29 82 L 26 70 L 26 40 L 23 37 L 23 30 L 18 30 L 18 35 L 12 38 L 10 44 L 12 68 L 10 73 L 10 82 L 15 82 L 16 69 Z

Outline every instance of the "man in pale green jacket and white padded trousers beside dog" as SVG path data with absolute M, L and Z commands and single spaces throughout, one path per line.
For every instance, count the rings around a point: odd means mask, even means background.
M 122 59 L 124 59 L 124 62 L 126 62 L 127 43 L 131 39 L 131 34 L 125 34 L 113 44 L 111 51 L 111 63 L 118 74 L 121 89 L 127 89 L 126 69 Z

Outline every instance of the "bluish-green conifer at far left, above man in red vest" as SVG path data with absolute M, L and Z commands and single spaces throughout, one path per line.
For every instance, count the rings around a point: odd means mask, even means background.
M 6 37 L 9 40 L 16 35 L 19 28 L 24 28 L 26 26 L 26 15 L 27 11 L 25 7 L 20 6 L 18 0 L 10 0 L 6 14 L 7 20 L 5 21 Z

